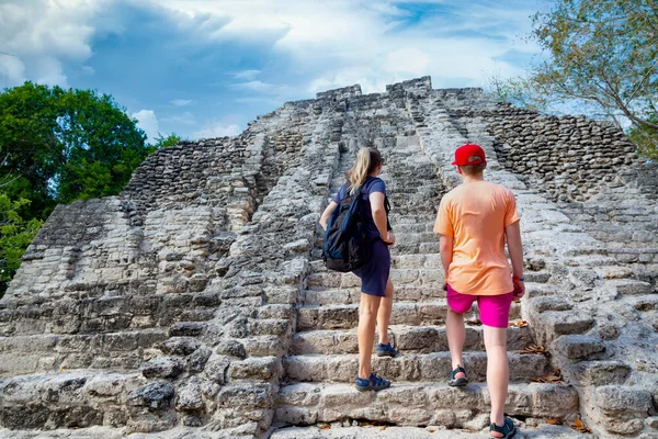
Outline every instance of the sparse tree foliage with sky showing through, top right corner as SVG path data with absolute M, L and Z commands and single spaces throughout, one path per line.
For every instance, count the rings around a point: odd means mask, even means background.
M 640 151 L 655 156 L 658 0 L 556 0 L 533 24 L 545 60 L 527 79 L 499 82 L 495 93 L 526 106 L 580 105 L 629 124 Z

